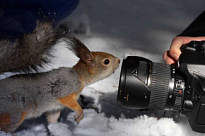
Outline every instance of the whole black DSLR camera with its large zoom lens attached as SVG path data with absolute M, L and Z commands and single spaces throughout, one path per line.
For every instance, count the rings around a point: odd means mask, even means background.
M 117 100 L 126 108 L 179 111 L 192 130 L 205 133 L 205 41 L 191 41 L 181 51 L 172 65 L 124 59 Z

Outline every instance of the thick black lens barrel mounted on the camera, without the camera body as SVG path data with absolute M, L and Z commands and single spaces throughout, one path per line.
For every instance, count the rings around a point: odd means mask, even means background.
M 123 60 L 117 100 L 134 109 L 179 110 L 184 86 L 174 65 L 128 56 Z

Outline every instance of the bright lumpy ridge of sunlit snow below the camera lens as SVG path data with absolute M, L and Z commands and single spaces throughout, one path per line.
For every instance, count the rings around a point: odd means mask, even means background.
M 88 126 L 88 124 L 92 124 L 93 127 Z M 147 115 L 134 119 L 106 118 L 104 114 L 98 114 L 89 109 L 86 110 L 85 119 L 75 129 L 74 134 L 79 136 L 182 136 L 182 130 L 172 119 L 162 118 L 158 120 Z

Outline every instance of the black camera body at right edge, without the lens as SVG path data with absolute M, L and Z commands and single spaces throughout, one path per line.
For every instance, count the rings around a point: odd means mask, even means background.
M 181 51 L 178 68 L 185 75 L 186 87 L 179 111 L 194 131 L 205 133 L 205 41 L 192 41 Z

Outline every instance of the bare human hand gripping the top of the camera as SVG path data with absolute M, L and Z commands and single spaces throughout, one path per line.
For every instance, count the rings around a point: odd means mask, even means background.
M 189 43 L 191 41 L 202 41 L 205 40 L 204 37 L 188 37 L 188 36 L 177 36 L 172 40 L 172 43 L 170 45 L 170 50 L 164 52 L 164 61 L 165 63 L 171 65 L 175 63 L 181 54 L 180 47 L 183 44 Z

